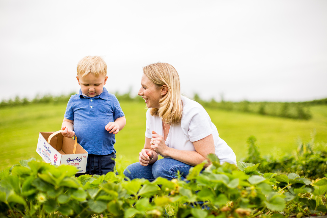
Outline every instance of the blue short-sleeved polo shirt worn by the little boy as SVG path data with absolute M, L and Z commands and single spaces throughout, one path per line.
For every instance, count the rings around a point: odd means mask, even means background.
M 83 95 L 81 90 L 72 95 L 64 118 L 74 120 L 77 141 L 89 154 L 106 155 L 116 153 L 113 148 L 116 139 L 105 126 L 123 116 L 116 96 L 103 88 L 103 92 L 93 98 Z

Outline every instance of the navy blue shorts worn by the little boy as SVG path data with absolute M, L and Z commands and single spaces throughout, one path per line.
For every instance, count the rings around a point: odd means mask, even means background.
M 85 173 L 77 173 L 76 176 L 83 174 L 102 175 L 108 172 L 114 172 L 116 165 L 115 159 L 116 154 L 114 152 L 107 155 L 88 154 Z

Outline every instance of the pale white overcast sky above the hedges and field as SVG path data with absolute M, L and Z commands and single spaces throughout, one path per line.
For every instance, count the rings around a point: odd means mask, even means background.
M 190 98 L 327 98 L 327 1 L 0 0 L 0 100 L 78 92 L 86 55 L 112 93 L 166 62 Z

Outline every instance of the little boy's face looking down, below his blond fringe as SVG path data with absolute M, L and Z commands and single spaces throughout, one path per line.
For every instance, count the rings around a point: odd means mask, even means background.
M 76 76 L 78 84 L 81 86 L 82 93 L 88 97 L 100 95 L 106 84 L 108 76 L 95 77 L 92 74 L 87 74 L 84 77 Z

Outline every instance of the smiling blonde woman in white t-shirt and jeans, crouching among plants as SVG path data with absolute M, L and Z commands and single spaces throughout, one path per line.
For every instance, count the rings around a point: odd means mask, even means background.
M 138 95 L 149 109 L 139 163 L 129 165 L 124 171 L 129 179 L 153 181 L 160 176 L 171 180 L 177 178 L 178 172 L 185 179 L 189 169 L 211 153 L 221 163 L 236 164 L 234 152 L 219 138 L 205 109 L 181 96 L 180 78 L 172 65 L 156 63 L 143 67 Z M 164 158 L 158 160 L 159 154 Z

